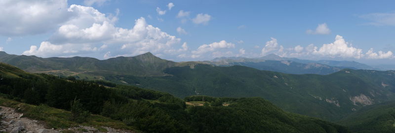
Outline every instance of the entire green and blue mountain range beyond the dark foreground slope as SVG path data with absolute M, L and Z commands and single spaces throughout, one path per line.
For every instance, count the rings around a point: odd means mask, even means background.
M 168 92 L 178 98 L 191 95 L 261 97 L 285 111 L 329 121 L 338 121 L 367 105 L 394 100 L 394 71 L 356 70 L 368 66 L 349 61 L 315 61 L 338 65 L 314 63 L 313 66 L 318 65 L 321 68 L 310 69 L 319 70 L 319 74 L 327 73 L 327 75 L 303 74 L 303 72 L 287 74 L 259 70 L 246 65 L 239 66 L 241 62 L 236 66 L 214 64 L 227 60 L 221 58 L 210 62 L 177 63 L 160 59 L 151 53 L 97 60 L 87 57 L 40 58 L 0 52 L 0 62 L 29 72 L 74 76 L 85 80 L 106 80 Z M 287 70 L 289 73 L 300 71 L 310 64 L 297 63 L 298 59 L 275 55 L 260 59 L 232 58 L 231 60 L 247 61 L 245 64 L 254 61 L 263 62 L 265 65 L 272 63 L 273 68 L 280 68 L 278 71 Z M 308 62 L 308 60 L 300 61 Z M 350 68 L 346 66 L 347 64 L 356 64 L 357 67 Z M 298 65 L 300 66 L 297 67 Z M 295 68 L 291 69 L 293 67 Z M 323 68 L 327 69 L 323 70 Z

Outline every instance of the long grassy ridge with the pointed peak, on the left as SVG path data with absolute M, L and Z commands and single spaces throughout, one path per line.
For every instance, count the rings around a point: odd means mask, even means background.
M 89 57 L 40 58 L 36 56 L 18 56 L 0 51 L 0 62 L 17 66 L 29 72 L 83 77 L 102 74 L 161 76 L 165 75 L 162 72 L 163 69 L 177 65 L 175 62 L 160 59 L 150 52 L 135 57 L 98 60 Z

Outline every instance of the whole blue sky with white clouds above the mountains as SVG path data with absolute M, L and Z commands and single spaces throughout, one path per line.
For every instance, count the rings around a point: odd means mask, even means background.
M 0 50 L 395 64 L 394 0 L 1 0 Z

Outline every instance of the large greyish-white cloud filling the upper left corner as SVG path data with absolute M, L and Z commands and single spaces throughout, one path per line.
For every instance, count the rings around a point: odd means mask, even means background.
M 46 33 L 69 20 L 67 0 L 1 0 L 0 35 Z

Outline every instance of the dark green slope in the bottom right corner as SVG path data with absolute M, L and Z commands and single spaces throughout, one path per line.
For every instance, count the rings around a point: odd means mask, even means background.
M 395 133 L 395 101 L 365 107 L 339 123 L 357 133 Z

